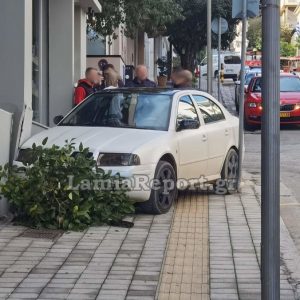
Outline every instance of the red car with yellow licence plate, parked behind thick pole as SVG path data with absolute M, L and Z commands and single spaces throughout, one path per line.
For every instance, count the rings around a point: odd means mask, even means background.
M 254 77 L 245 94 L 245 129 L 255 130 L 261 125 L 262 78 Z M 300 78 L 290 73 L 280 74 L 280 124 L 300 125 Z

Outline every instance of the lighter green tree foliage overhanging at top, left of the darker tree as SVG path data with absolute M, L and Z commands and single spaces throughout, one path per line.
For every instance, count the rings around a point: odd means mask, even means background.
M 165 33 L 166 24 L 181 17 L 181 6 L 175 0 L 100 0 L 102 12 L 96 14 L 92 28 L 103 36 L 113 36 L 119 26 L 126 36 L 134 38 L 138 31 L 150 36 Z

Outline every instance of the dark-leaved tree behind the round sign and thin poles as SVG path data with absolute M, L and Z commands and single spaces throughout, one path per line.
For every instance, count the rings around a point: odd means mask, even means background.
M 183 11 L 183 19 L 177 19 L 167 26 L 170 42 L 181 58 L 181 66 L 191 71 L 195 67 L 197 53 L 206 42 L 207 1 L 206 0 L 177 0 Z M 221 16 L 228 20 L 229 30 L 222 35 L 222 48 L 227 48 L 235 34 L 237 20 L 231 18 L 231 0 L 213 0 L 213 18 Z M 217 47 L 217 35 L 212 36 L 212 46 Z

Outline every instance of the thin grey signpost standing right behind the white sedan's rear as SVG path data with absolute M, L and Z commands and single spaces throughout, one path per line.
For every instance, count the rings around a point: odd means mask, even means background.
M 242 52 L 241 52 L 241 78 L 240 78 L 240 109 L 239 109 L 239 172 L 238 189 L 242 181 L 242 165 L 244 154 L 244 105 L 245 105 L 245 60 L 246 60 L 246 34 L 247 34 L 247 0 L 243 0 L 242 18 Z

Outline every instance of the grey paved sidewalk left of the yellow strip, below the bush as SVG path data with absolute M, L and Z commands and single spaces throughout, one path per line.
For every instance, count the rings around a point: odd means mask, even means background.
M 154 299 L 172 212 L 93 227 L 56 242 L 0 230 L 0 299 Z

